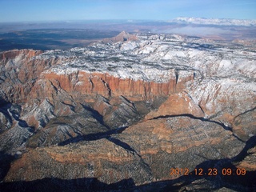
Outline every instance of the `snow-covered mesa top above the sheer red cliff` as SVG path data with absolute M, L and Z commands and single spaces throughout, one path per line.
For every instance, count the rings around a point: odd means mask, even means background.
M 50 50 L 32 58 L 62 58 L 45 73 L 70 74 L 82 70 L 119 78 L 167 82 L 195 74 L 195 78 L 256 78 L 256 52 L 235 43 L 171 34 L 137 34 L 137 41 L 103 43 L 71 50 Z

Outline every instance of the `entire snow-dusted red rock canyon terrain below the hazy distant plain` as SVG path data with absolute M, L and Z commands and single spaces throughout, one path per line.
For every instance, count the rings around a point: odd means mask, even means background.
M 10 169 L 0 166 L 0 187 L 253 190 L 254 56 L 249 47 L 126 33 L 67 51 L 1 53 L 0 162 Z M 247 174 L 226 179 L 229 167 Z

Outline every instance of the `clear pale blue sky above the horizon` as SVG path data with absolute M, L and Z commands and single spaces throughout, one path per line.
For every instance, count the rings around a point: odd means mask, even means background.
M 0 0 L 0 22 L 177 17 L 256 19 L 255 0 Z

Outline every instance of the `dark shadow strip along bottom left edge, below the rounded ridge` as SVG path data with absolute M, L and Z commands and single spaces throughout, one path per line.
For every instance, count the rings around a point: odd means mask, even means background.
M 97 178 L 77 178 L 77 179 L 60 179 L 60 178 L 43 178 L 30 182 L 2 182 L 0 191 L 9 192 L 77 192 L 77 191 L 123 191 L 135 186 L 132 178 L 124 179 L 120 182 L 106 184 L 98 181 Z

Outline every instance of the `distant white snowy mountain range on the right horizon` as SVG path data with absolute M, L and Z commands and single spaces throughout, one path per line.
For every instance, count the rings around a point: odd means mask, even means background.
M 175 18 L 170 22 L 216 26 L 256 26 L 256 20 L 231 18 Z

